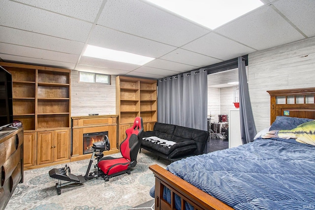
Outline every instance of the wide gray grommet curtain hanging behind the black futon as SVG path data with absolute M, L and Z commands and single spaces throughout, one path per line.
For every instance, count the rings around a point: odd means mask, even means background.
M 158 81 L 158 122 L 207 130 L 207 71 Z

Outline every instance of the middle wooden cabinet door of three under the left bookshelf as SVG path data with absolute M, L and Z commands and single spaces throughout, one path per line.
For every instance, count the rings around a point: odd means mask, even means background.
M 37 132 L 37 165 L 52 163 L 54 157 L 54 131 Z

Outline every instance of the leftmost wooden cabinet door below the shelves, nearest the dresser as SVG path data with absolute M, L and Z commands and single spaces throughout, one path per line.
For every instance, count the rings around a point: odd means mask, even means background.
M 34 165 L 35 157 L 35 132 L 24 133 L 24 167 L 29 167 Z

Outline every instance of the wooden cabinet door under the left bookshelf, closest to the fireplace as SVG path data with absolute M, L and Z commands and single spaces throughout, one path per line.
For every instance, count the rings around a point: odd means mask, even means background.
M 54 131 L 54 162 L 69 159 L 69 130 Z

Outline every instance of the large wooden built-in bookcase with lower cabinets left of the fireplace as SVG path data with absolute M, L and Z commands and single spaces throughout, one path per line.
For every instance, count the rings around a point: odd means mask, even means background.
M 24 127 L 24 167 L 69 162 L 71 70 L 8 62 L 0 66 L 12 74 L 13 120 Z

